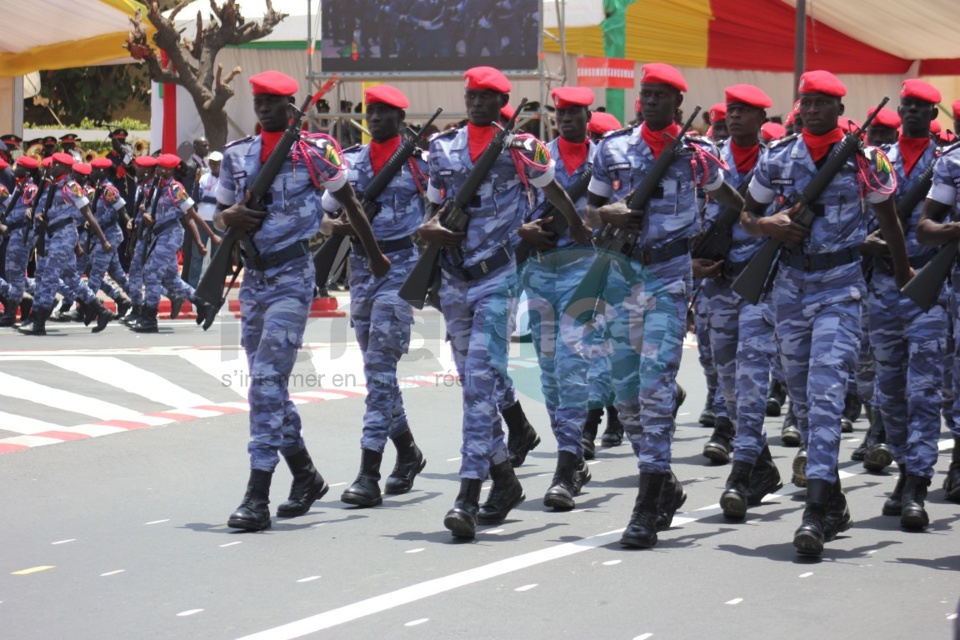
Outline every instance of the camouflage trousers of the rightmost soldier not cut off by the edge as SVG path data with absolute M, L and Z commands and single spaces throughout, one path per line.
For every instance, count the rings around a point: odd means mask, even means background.
M 877 370 L 877 401 L 887 444 L 910 475 L 933 477 L 940 437 L 940 385 L 947 313 L 923 313 L 903 296 L 892 276 L 876 273 L 870 285 L 870 340 Z

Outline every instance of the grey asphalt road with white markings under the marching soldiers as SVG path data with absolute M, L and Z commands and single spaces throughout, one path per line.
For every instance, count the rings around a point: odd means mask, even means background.
M 460 394 L 445 376 L 439 316 L 420 318 L 401 370 L 428 459 L 414 490 L 375 509 L 339 501 L 359 465 L 362 378 L 347 320 L 317 319 L 294 392 L 333 488 L 309 514 L 254 534 L 225 527 L 247 477 L 236 321 L 206 334 L 189 321 L 153 336 L 4 330 L 0 450 L 22 448 L 0 455 L 0 638 L 951 637 L 960 506 L 940 490 L 948 445 L 926 532 L 880 515 L 893 476 L 845 462 L 856 524 L 822 561 L 798 559 L 802 493 L 789 484 L 795 450 L 778 444 L 780 419 L 767 425 L 784 490 L 743 523 L 719 513 L 729 467 L 701 456 L 709 432 L 696 423 L 705 387 L 695 349 L 684 353 L 689 396 L 674 446 L 689 498 L 654 549 L 618 544 L 636 493 L 628 445 L 598 447 L 575 511 L 543 508 L 555 444 L 526 345 L 514 346 L 514 374 L 543 436 L 518 469 L 527 500 L 475 541 L 453 540 L 442 519 L 458 488 Z M 152 426 L 130 426 L 138 420 Z M 856 427 L 844 461 L 865 421 Z M 388 450 L 387 472 L 393 460 Z M 275 474 L 274 507 L 289 479 L 283 467 Z

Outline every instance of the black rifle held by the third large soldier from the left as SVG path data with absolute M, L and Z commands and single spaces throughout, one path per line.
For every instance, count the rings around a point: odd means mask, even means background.
M 506 147 L 507 136 L 517 121 L 517 115 L 523 111 L 526 104 L 526 98 L 520 101 L 517 110 L 513 113 L 513 117 L 494 134 L 493 140 L 490 141 L 487 148 L 484 149 L 480 157 L 477 158 L 473 169 L 467 174 L 463 185 L 457 191 L 456 197 L 452 201 L 448 200 L 441 206 L 441 209 L 446 209 L 446 211 L 440 222 L 447 229 L 451 231 L 466 230 L 467 225 L 470 223 L 470 215 L 464 208 L 473 200 L 483 181 L 486 180 L 487 174 L 490 173 L 497 158 L 500 157 L 500 154 Z M 437 269 L 440 266 L 440 251 L 442 249 L 443 247 L 438 244 L 428 244 L 424 248 L 423 253 L 420 254 L 420 258 L 417 260 L 417 264 L 414 265 L 413 271 L 410 272 L 403 286 L 400 287 L 400 291 L 398 292 L 400 298 L 410 303 L 410 306 L 423 309 L 430 285 L 437 276 Z M 457 262 L 462 264 L 463 256 L 460 254 L 459 249 L 452 253 L 456 256 Z

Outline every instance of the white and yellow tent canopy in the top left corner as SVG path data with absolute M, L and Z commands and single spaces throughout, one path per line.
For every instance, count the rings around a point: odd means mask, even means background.
M 128 58 L 137 9 L 135 0 L 0 0 L 0 76 Z

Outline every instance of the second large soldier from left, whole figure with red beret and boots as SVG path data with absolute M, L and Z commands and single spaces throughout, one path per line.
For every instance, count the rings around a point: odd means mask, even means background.
M 347 149 L 347 178 L 354 191 L 363 193 L 370 181 L 402 143 L 400 127 L 410 106 L 403 93 L 389 85 L 367 89 L 364 96 L 367 126 L 372 141 Z M 426 163 L 417 152 L 372 204 L 377 214 L 371 220 L 374 235 L 384 254 L 390 257 L 390 271 L 376 278 L 369 269 L 359 242 L 351 242 L 350 323 L 357 333 L 367 380 L 367 410 L 360 439 L 360 474 L 341 496 L 347 504 L 372 507 L 380 504 L 380 464 L 387 439 L 397 448 L 397 462 L 387 478 L 385 491 L 401 494 L 413 488 L 414 478 L 427 461 L 413 440 L 407 423 L 403 397 L 397 384 L 397 363 L 410 346 L 410 305 L 397 292 L 417 263 L 419 252 L 411 236 L 423 221 L 423 193 L 427 187 Z M 339 214 L 340 204 L 329 193 L 323 196 L 327 213 L 323 232 L 353 237 L 353 227 Z

